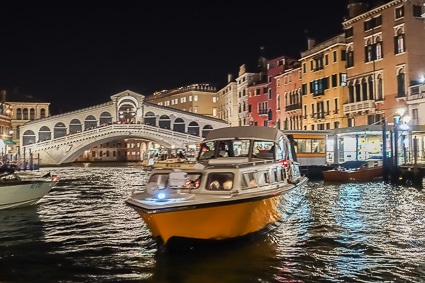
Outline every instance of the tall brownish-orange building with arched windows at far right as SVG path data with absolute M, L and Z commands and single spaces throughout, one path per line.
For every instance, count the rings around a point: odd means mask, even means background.
M 408 89 L 425 72 L 423 0 L 395 0 L 366 9 L 350 3 L 342 24 L 346 38 L 348 126 L 371 125 L 406 108 Z M 420 104 L 410 107 L 418 118 Z M 423 111 L 422 111 L 423 112 Z

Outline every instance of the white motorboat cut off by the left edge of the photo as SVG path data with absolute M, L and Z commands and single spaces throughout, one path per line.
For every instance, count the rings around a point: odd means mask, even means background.
M 14 172 L 0 175 L 0 209 L 36 204 L 57 184 L 56 175 L 20 177 Z

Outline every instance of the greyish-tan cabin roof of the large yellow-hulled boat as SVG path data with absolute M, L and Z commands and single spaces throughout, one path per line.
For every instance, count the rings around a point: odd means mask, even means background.
M 211 130 L 204 141 L 229 139 L 256 139 L 278 142 L 283 132 L 275 128 L 260 126 L 224 127 Z

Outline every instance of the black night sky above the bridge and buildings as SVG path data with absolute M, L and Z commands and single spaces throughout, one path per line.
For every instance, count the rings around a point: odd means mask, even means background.
M 127 89 L 219 89 L 262 46 L 299 57 L 306 34 L 341 33 L 347 1 L 0 0 L 0 13 L 0 89 L 63 112 Z

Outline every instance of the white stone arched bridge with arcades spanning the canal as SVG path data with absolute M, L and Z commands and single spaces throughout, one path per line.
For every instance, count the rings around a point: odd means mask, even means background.
M 25 123 L 20 128 L 20 154 L 37 154 L 43 166 L 60 165 L 114 140 L 184 147 L 226 126 L 222 120 L 145 102 L 143 95 L 128 90 L 104 104 Z

